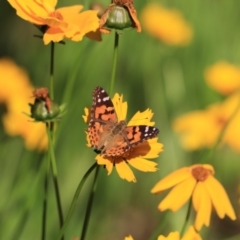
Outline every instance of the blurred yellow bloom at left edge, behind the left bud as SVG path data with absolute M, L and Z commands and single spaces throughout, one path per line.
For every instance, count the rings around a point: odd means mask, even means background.
M 29 149 L 46 150 L 48 140 L 45 126 L 33 123 L 23 112 L 29 112 L 33 87 L 27 74 L 13 61 L 0 60 L 0 102 L 6 104 L 3 125 L 7 134 L 21 136 Z

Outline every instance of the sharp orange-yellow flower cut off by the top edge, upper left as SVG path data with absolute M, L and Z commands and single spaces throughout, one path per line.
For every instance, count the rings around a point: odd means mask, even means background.
M 42 26 L 45 44 L 64 38 L 81 41 L 83 36 L 99 27 L 97 11 L 79 13 L 82 5 L 55 9 L 57 0 L 8 0 L 17 15 L 24 20 Z

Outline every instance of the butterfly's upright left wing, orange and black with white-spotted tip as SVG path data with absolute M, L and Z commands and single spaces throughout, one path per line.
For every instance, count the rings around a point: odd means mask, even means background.
M 93 148 L 100 149 L 103 147 L 100 140 L 108 134 L 111 126 L 117 121 L 111 98 L 103 88 L 96 87 L 93 91 L 93 104 L 88 124 L 88 136 Z

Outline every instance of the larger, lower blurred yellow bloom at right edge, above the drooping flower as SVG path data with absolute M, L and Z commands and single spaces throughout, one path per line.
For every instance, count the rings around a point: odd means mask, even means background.
M 229 123 L 228 123 L 229 121 Z M 227 125 L 221 144 L 240 151 L 240 95 L 236 93 L 222 103 L 215 103 L 206 110 L 193 111 L 178 117 L 173 129 L 181 135 L 187 150 L 213 147 Z

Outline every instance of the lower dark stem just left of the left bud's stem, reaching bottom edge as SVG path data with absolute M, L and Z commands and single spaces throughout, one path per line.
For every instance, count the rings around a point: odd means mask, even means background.
M 47 126 L 46 126 L 47 127 Z M 49 163 L 50 154 L 46 158 L 46 174 L 44 180 L 44 199 L 43 199 L 43 215 L 42 215 L 42 240 L 46 239 L 46 226 L 47 226 L 47 199 L 48 199 L 48 180 L 49 180 Z

